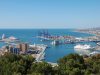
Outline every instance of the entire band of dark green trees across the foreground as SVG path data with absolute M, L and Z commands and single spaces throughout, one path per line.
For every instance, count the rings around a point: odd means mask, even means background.
M 58 66 L 34 62 L 29 55 L 5 54 L 0 57 L 0 75 L 100 75 L 100 55 L 84 59 L 69 54 L 58 60 Z

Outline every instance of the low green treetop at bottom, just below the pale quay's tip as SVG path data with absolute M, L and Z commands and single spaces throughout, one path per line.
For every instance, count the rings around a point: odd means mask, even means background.
M 52 66 L 46 62 L 33 63 L 29 73 L 40 73 L 41 75 L 51 75 Z

